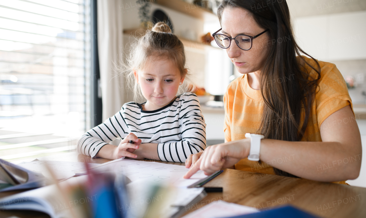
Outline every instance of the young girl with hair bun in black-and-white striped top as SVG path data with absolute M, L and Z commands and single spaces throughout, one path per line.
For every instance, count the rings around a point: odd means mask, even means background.
M 157 23 L 132 45 L 127 78 L 134 83 L 134 97 L 104 123 L 87 131 L 77 151 L 91 157 L 156 159 L 185 162 L 206 147 L 206 124 L 198 98 L 183 90 L 187 75 L 182 42 L 168 25 Z M 187 87 L 187 86 L 186 86 Z M 121 138 L 119 146 L 108 144 Z

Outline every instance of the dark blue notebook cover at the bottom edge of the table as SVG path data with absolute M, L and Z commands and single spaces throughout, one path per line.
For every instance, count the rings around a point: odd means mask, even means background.
M 292 206 L 273 208 L 271 210 L 260 211 L 254 214 L 240 215 L 230 218 L 319 218 Z

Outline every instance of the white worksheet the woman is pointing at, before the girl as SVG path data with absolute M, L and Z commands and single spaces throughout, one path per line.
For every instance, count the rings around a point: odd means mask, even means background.
M 184 179 L 184 174 L 189 169 L 185 166 L 167 163 L 137 161 L 131 159 L 120 159 L 97 166 L 93 170 L 98 172 L 116 171 L 123 173 L 132 182 L 138 180 L 149 180 L 154 182 L 169 183 L 175 187 L 190 187 L 192 184 L 211 176 L 206 176 L 199 170 L 191 178 Z M 76 175 L 86 174 L 86 171 L 77 172 Z

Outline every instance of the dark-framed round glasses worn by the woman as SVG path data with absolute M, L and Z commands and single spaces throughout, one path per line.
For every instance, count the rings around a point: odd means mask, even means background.
M 223 28 L 221 28 L 220 30 L 222 30 L 222 29 Z M 238 47 L 240 49 L 249 50 L 249 49 L 251 49 L 251 47 L 253 45 L 253 39 L 257 38 L 259 35 L 262 35 L 269 29 L 266 29 L 262 33 L 259 33 L 258 35 L 255 35 L 255 36 L 240 34 L 234 38 L 231 38 L 227 35 L 218 33 L 220 30 L 217 30 L 214 34 L 212 34 L 212 36 L 215 39 L 217 45 L 219 45 L 221 48 L 225 48 L 225 49 L 229 48 L 230 44 L 231 44 L 231 40 L 235 39 L 235 43 L 236 43 L 236 45 L 238 45 Z

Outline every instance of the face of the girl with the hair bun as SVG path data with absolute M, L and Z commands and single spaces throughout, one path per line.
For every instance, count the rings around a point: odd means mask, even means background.
M 157 110 L 172 102 L 178 92 L 179 83 L 184 77 L 171 60 L 152 60 L 149 58 L 145 67 L 134 71 L 137 83 L 140 85 L 143 97 L 147 102 L 144 110 Z

